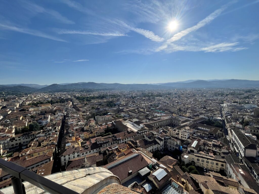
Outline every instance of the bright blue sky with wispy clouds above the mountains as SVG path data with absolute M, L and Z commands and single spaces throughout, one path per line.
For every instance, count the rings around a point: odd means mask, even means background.
M 259 80 L 258 10 L 259 0 L 2 0 L 0 85 Z

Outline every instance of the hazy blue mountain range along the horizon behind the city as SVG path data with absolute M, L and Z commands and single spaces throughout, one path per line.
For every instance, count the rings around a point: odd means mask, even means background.
M 34 87 L 33 87 L 34 86 Z M 78 82 L 52 85 L 38 84 L 9 84 L 0 85 L 0 91 L 15 92 L 64 92 L 78 89 L 116 89 L 116 90 L 147 90 L 147 89 L 172 89 L 172 88 L 244 88 L 259 87 L 259 80 L 186 80 L 180 82 L 161 84 L 106 84 L 95 82 Z

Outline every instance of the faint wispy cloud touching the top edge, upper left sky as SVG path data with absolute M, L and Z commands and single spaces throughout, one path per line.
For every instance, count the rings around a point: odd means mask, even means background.
M 24 8 L 31 12 L 36 12 L 36 13 L 46 13 L 50 15 L 51 17 L 55 18 L 56 20 L 59 20 L 62 23 L 65 24 L 74 24 L 74 21 L 69 20 L 68 18 L 62 16 L 59 12 L 52 10 L 52 9 L 46 9 L 40 5 L 37 5 L 35 3 L 29 2 L 29 1 L 22 1 L 22 5 Z

